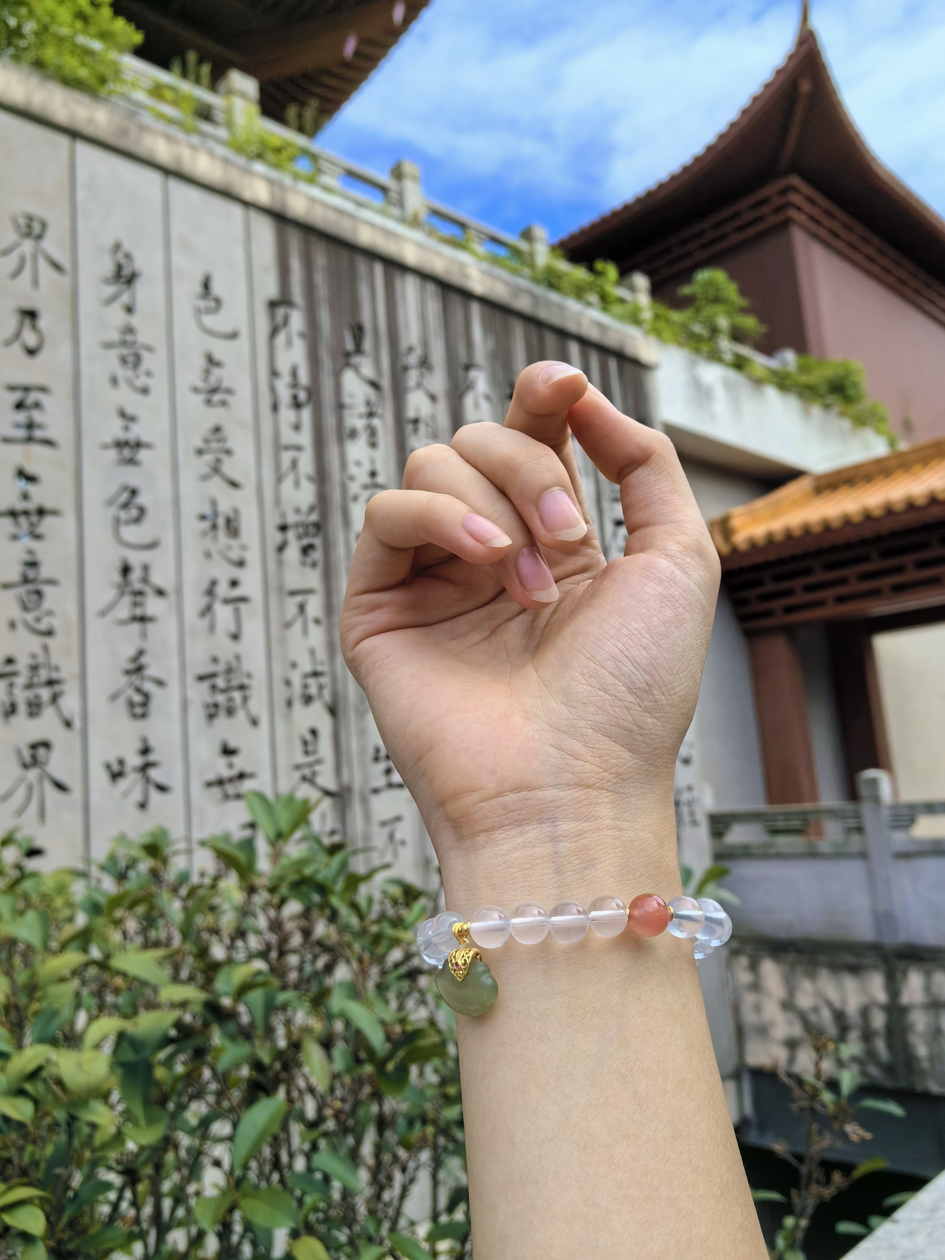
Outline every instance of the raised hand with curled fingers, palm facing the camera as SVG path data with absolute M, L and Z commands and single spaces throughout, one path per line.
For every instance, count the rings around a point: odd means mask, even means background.
M 669 438 L 566 368 L 525 368 L 504 426 L 415 451 L 352 562 L 344 656 L 445 877 L 486 852 L 528 869 L 552 834 L 558 869 L 588 833 L 625 844 L 641 801 L 672 801 L 696 707 L 714 547 Z M 620 485 L 610 563 L 571 433 Z

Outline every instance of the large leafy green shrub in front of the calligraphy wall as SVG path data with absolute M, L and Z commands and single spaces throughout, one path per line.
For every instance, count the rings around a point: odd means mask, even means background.
M 208 840 L 199 874 L 160 829 L 91 874 L 3 840 L 0 1256 L 263 1257 L 285 1230 L 296 1260 L 413 1260 L 421 1179 L 464 1254 L 430 897 L 355 872 L 307 803 L 247 801 L 262 839 Z

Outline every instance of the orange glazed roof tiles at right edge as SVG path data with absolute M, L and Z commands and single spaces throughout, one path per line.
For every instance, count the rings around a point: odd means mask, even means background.
M 709 523 L 719 556 L 945 503 L 945 438 L 833 472 L 809 472 Z

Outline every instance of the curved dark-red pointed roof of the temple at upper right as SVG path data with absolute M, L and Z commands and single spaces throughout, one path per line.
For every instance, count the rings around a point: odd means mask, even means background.
M 785 175 L 945 281 L 945 220 L 868 147 L 805 21 L 786 60 L 702 152 L 558 244 L 576 262 L 612 258 L 626 271 L 648 246 Z

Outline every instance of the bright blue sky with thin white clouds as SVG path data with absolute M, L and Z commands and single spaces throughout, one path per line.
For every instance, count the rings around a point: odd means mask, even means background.
M 702 149 L 785 57 L 796 0 L 431 0 L 320 134 L 426 195 L 552 237 Z M 814 0 L 847 106 L 879 158 L 945 214 L 945 3 Z

